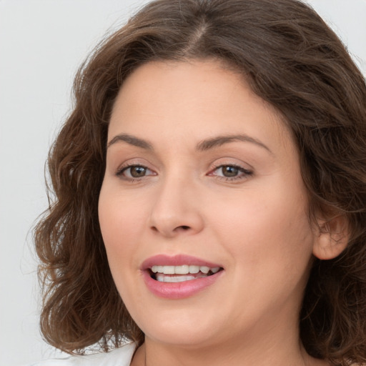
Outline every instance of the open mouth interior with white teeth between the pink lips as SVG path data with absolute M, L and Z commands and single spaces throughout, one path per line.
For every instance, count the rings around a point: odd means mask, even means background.
M 207 267 L 194 264 L 183 264 L 179 266 L 152 265 L 148 272 L 152 280 L 157 282 L 186 282 L 212 276 L 221 271 L 222 267 Z

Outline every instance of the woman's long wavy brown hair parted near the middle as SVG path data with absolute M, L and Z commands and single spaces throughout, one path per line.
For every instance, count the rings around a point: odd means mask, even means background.
M 314 212 L 347 217 L 339 257 L 315 259 L 300 317 L 307 352 L 366 361 L 366 86 L 345 46 L 297 0 L 157 0 L 102 41 L 76 74 L 74 110 L 51 147 L 50 206 L 34 231 L 41 332 L 66 352 L 144 335 L 114 285 L 97 213 L 107 129 L 124 79 L 148 61 L 218 59 L 292 131 Z

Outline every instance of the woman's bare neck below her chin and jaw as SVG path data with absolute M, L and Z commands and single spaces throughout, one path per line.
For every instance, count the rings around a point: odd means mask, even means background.
M 276 333 L 276 337 L 270 337 Z M 146 337 L 132 366 L 327 366 L 327 362 L 307 355 L 298 332 L 283 334 L 269 330 L 257 342 L 255 334 L 202 347 L 172 346 Z

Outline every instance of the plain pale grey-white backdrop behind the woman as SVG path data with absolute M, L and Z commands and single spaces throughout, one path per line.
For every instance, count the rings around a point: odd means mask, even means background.
M 102 36 L 147 1 L 0 0 L 0 365 L 59 355 L 39 334 L 31 227 L 71 84 Z M 366 0 L 309 0 L 366 74 Z

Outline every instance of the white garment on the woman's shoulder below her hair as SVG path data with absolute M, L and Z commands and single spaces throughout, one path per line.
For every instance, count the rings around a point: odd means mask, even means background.
M 45 360 L 27 366 L 129 366 L 135 348 L 135 343 L 129 343 L 111 352 Z

